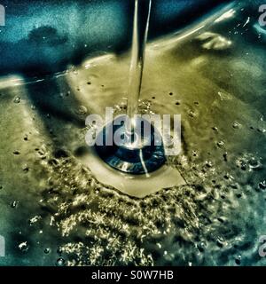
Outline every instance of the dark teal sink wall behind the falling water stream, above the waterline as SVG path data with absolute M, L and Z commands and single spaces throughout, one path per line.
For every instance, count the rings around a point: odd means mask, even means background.
M 228 0 L 153 0 L 150 38 L 176 31 Z M 38 75 L 95 53 L 129 48 L 134 1 L 2 1 L 0 73 Z

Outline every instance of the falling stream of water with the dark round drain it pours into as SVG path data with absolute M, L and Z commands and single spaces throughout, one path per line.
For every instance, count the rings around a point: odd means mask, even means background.
M 151 4 L 152 0 L 135 1 L 128 115 L 107 124 L 99 134 L 99 141 L 102 141 L 103 137 L 104 141 L 106 138 L 108 140 L 111 138 L 113 142 L 111 146 L 109 143 L 102 146 L 98 142 L 95 146 L 99 157 L 115 170 L 134 175 L 145 174 L 146 177 L 149 177 L 150 172 L 160 169 L 166 162 L 160 132 L 151 125 L 151 122 L 135 116 L 141 90 Z M 124 122 L 123 125 L 121 121 Z M 117 133 L 120 133 L 121 137 L 119 144 L 113 140 Z

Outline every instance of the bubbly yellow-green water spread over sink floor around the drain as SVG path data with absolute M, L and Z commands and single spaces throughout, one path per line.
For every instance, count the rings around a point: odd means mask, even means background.
M 86 115 L 126 111 L 127 54 L 5 81 L 0 264 L 265 264 L 265 35 L 240 6 L 211 23 L 149 45 L 139 107 L 182 114 L 183 152 L 169 163 L 188 185 L 145 199 L 80 162 Z

